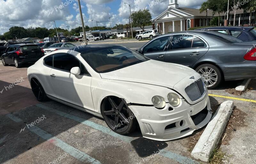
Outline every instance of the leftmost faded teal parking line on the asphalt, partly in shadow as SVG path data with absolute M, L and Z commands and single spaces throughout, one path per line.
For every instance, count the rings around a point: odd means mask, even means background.
M 7 117 L 9 117 L 14 122 L 20 123 L 22 120 L 18 117 L 13 116 L 12 114 L 7 114 Z M 30 128 L 27 128 L 29 131 L 35 133 L 41 138 L 44 138 L 48 142 L 60 147 L 62 150 L 64 150 L 66 153 L 72 155 L 77 160 L 80 160 L 82 162 L 86 163 L 92 163 L 92 164 L 100 164 L 100 161 L 90 157 L 86 153 L 76 149 L 75 147 L 68 145 L 66 142 L 62 141 L 61 139 L 52 136 L 51 134 L 47 133 L 46 131 L 38 128 L 37 126 L 32 126 Z

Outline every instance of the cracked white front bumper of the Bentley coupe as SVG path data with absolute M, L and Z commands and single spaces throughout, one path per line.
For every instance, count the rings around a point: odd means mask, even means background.
M 202 101 L 194 105 L 181 99 L 178 107 L 167 103 L 161 110 L 144 106 L 129 108 L 139 122 L 143 137 L 158 141 L 191 135 L 195 130 L 204 127 L 212 117 L 208 93 Z

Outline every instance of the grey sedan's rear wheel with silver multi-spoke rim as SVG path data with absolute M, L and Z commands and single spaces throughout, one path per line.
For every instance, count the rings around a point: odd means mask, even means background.
M 214 89 L 220 85 L 222 80 L 221 71 L 218 67 L 212 64 L 202 64 L 196 68 L 204 79 L 204 83 L 208 89 Z

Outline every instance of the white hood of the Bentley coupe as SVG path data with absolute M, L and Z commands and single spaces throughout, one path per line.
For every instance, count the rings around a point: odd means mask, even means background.
M 164 86 L 173 89 L 183 78 L 194 74 L 193 69 L 156 60 L 134 64 L 116 71 L 100 73 L 101 78 Z

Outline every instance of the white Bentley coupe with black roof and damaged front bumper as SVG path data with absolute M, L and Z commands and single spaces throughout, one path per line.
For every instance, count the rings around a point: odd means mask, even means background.
M 121 135 L 139 124 L 145 138 L 172 140 L 192 134 L 212 116 L 196 71 L 123 46 L 54 51 L 28 68 L 28 78 L 38 101 L 50 98 L 102 117 Z

